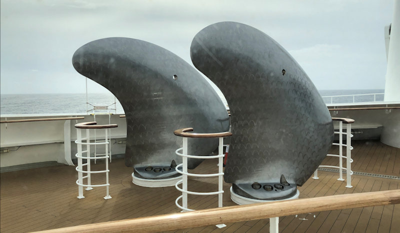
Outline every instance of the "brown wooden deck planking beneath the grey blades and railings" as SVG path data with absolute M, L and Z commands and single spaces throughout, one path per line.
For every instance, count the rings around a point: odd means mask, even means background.
M 354 141 L 353 146 L 353 170 L 400 175 L 400 149 L 383 145 L 378 141 Z M 338 151 L 337 148 L 331 149 L 334 150 Z M 211 169 L 215 171 L 216 159 L 210 160 L 202 163 L 194 169 L 194 172 L 204 173 Z M 337 157 L 327 157 L 324 162 L 326 161 L 329 165 L 338 164 Z M 103 165 L 97 163 L 92 167 L 101 169 Z M 75 184 L 77 174 L 71 166 L 60 165 L 1 173 L 0 231 L 25 232 L 179 211 L 174 201 L 181 193 L 173 186 L 146 188 L 134 185 L 130 176 L 132 169 L 124 166 L 123 159 L 113 159 L 110 170 L 112 199 L 109 200 L 102 198 L 105 195 L 105 187 L 84 190 L 85 198 L 77 199 Z M 400 188 L 400 180 L 394 179 L 353 175 L 353 188 L 345 188 L 345 181 L 337 180 L 337 172 L 318 171 L 318 176 L 319 179 L 309 178 L 298 187 L 300 198 Z M 94 180 L 100 179 L 103 178 L 95 177 L 92 183 L 95 184 Z M 216 181 L 215 177 L 193 178 L 189 180 L 189 189 L 214 191 L 217 188 Z M 230 184 L 223 184 L 224 206 L 235 205 L 230 200 L 229 187 Z M 216 206 L 216 195 L 188 195 L 189 208 L 202 209 Z M 299 219 L 303 217 L 307 220 Z M 400 228 L 397 219 L 400 219 L 400 204 L 332 210 L 299 214 L 297 217 L 294 215 L 280 217 L 279 231 L 394 232 L 394 229 Z M 175 232 L 264 232 L 268 229 L 269 219 L 261 219 L 227 223 L 227 227 L 222 229 L 206 226 Z

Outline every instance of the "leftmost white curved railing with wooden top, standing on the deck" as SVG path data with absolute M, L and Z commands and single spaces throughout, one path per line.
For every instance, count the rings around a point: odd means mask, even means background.
M 77 153 L 75 154 L 78 165 L 76 166 L 75 170 L 78 172 L 78 179 L 76 180 L 76 184 L 78 185 L 78 196 L 77 198 L 81 199 L 84 198 L 83 196 L 83 187 L 86 187 L 85 190 L 91 190 L 93 187 L 102 187 L 105 186 L 106 188 L 106 195 L 104 196 L 104 199 L 110 199 L 111 196 L 108 193 L 108 158 L 110 157 L 108 154 L 108 144 L 109 141 L 107 140 L 108 135 L 107 135 L 107 129 L 109 128 L 114 128 L 118 127 L 116 124 L 104 124 L 104 125 L 97 125 L 95 121 L 92 122 L 82 122 L 82 123 L 77 123 L 75 124 L 76 128 L 76 136 L 77 139 L 75 140 L 75 143 L 77 144 Z M 98 129 L 98 128 L 103 128 L 104 129 L 104 135 L 105 135 L 105 140 L 101 142 L 90 142 L 90 129 Z M 86 137 L 82 138 L 81 134 L 81 129 L 86 129 Z M 86 140 L 86 142 L 82 142 L 82 140 Z M 99 157 L 91 157 L 90 156 L 90 145 L 100 145 L 103 144 L 105 145 L 105 153 L 104 156 L 99 156 Z M 82 145 L 86 145 L 86 149 L 82 150 Z M 83 156 L 83 153 L 86 156 Z M 90 160 L 91 159 L 100 159 L 104 158 L 105 159 L 105 170 L 96 170 L 92 171 L 90 170 Z M 83 159 L 86 159 L 85 163 L 82 163 Z M 86 170 L 83 170 L 83 166 L 86 166 Z M 83 173 L 86 175 L 83 176 Z M 104 184 L 91 184 L 91 174 L 92 173 L 105 173 L 105 183 Z M 83 184 L 83 179 L 86 178 L 87 184 Z

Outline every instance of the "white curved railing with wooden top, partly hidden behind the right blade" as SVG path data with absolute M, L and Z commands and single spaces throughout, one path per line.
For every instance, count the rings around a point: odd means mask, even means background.
M 339 134 L 339 143 L 332 143 L 332 145 L 338 145 L 339 146 L 339 154 L 326 154 L 326 156 L 331 156 L 331 157 L 338 157 L 339 158 L 339 166 L 331 166 L 331 165 L 319 165 L 318 167 L 328 167 L 328 168 L 337 168 L 339 169 L 339 178 L 337 180 L 343 181 L 343 169 L 346 170 L 346 187 L 350 188 L 352 187 L 351 185 L 351 175 L 353 174 L 353 171 L 351 170 L 351 163 L 353 162 L 353 159 L 351 158 L 351 150 L 353 147 L 351 146 L 351 137 L 353 136 L 351 134 L 351 123 L 354 122 L 353 119 L 349 118 L 339 118 L 339 117 L 332 117 L 332 120 L 337 120 L 339 121 L 339 131 L 334 131 L 334 134 Z M 346 124 L 346 132 L 343 132 L 343 123 Z M 346 135 L 346 144 L 343 144 L 343 134 Z M 346 147 L 346 156 L 343 156 L 343 146 Z M 342 159 L 346 159 L 346 167 L 343 167 L 342 164 Z M 314 171 L 314 176 L 312 177 L 313 179 L 319 179 L 318 178 L 318 169 Z

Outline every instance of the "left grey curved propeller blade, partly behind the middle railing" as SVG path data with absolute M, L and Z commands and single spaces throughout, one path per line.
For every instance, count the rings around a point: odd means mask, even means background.
M 174 151 L 182 139 L 173 135 L 175 129 L 193 127 L 205 133 L 229 128 L 226 109 L 210 84 L 195 68 L 160 46 L 132 38 L 98 39 L 78 48 L 72 64 L 120 101 L 127 124 L 127 166 L 164 167 L 172 159 L 181 163 Z M 218 139 L 189 138 L 188 143 L 190 154 L 208 155 Z M 189 159 L 189 168 L 200 162 Z M 176 171 L 168 173 L 176 175 Z M 149 173 L 147 178 L 154 177 Z

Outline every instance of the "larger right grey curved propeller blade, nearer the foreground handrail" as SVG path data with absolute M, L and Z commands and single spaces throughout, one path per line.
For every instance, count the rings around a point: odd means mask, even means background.
M 303 69 L 271 37 L 237 22 L 202 29 L 190 55 L 229 104 L 233 135 L 225 181 L 235 184 L 236 193 L 256 199 L 295 194 L 293 184 L 311 176 L 333 140 L 329 112 Z M 251 187 L 279 184 L 281 175 L 289 186 L 273 192 Z

